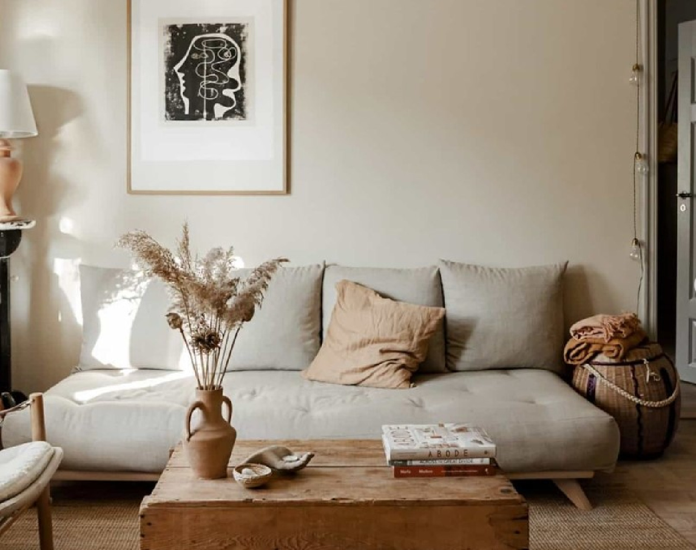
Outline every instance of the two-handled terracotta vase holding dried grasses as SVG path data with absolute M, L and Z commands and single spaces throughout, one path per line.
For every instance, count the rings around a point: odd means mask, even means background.
M 227 417 L 222 416 L 222 405 L 227 405 Z M 191 430 L 191 415 L 199 409 L 203 419 Z M 237 430 L 230 425 L 232 402 L 220 389 L 196 389 L 196 401 L 189 405 L 184 426 L 184 451 L 191 469 L 201 479 L 227 477 L 232 448 Z

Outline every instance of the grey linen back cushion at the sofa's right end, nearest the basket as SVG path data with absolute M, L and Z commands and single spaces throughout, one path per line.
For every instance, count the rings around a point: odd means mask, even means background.
M 506 269 L 440 261 L 448 369 L 562 372 L 566 267 Z

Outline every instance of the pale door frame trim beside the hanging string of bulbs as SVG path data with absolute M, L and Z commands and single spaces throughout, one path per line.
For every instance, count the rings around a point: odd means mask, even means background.
M 644 246 L 644 281 L 638 315 L 651 338 L 657 335 L 657 133 L 658 133 L 658 13 L 657 0 L 640 0 L 643 91 L 640 99 L 642 152 L 647 154 L 649 173 L 638 180 L 639 238 Z M 676 321 L 675 321 L 676 322 Z

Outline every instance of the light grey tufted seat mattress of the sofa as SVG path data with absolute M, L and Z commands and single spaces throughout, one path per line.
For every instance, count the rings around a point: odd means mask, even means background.
M 613 419 L 556 374 L 514 369 L 418 375 L 408 390 L 308 382 L 296 371 L 227 373 L 232 424 L 243 439 L 378 439 L 383 423 L 466 419 L 484 426 L 509 473 L 611 469 Z M 181 437 L 194 381 L 177 371 L 78 372 L 45 395 L 47 432 L 63 468 L 159 472 Z M 3 441 L 29 434 L 29 415 L 8 416 Z

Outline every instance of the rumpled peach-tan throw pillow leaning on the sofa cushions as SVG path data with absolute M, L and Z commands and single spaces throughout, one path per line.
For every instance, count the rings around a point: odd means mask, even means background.
M 430 337 L 445 316 L 382 298 L 350 281 L 336 284 L 336 305 L 322 348 L 302 375 L 307 380 L 374 388 L 411 387 Z

